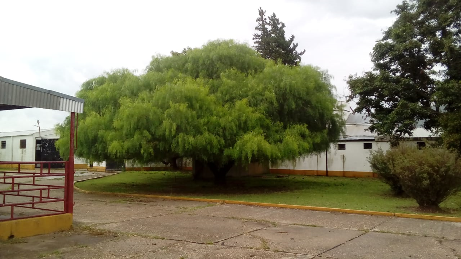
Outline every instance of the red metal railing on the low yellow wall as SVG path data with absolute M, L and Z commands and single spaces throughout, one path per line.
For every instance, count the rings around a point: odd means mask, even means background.
M 51 164 L 57 163 L 64 164 L 65 168 L 50 168 Z M 39 164 L 40 169 L 25 170 L 21 168 L 21 165 L 24 164 Z M 0 167 L 2 165 L 14 165 L 18 166 L 18 169 L 0 171 L 0 187 L 2 187 L 0 189 L 0 221 L 72 213 L 73 172 L 69 174 L 68 161 L 0 161 Z M 56 180 L 64 178 L 64 185 L 41 183 L 41 180 L 50 177 L 56 178 Z M 56 190 L 63 190 L 63 192 L 58 193 Z M 53 206 L 59 205 L 59 202 L 64 203 L 64 205 L 62 207 Z M 51 206 L 47 207 L 47 205 Z M 23 208 L 23 210 L 17 208 Z M 24 208 L 28 210 L 24 210 Z

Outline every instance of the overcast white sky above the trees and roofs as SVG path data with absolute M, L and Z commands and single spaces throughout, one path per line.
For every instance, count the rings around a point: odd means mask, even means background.
M 275 12 L 306 49 L 302 63 L 344 78 L 371 69 L 369 53 L 401 0 L 1 1 L 0 76 L 74 95 L 83 81 L 116 68 L 143 69 L 152 55 L 208 40 L 253 45 L 257 9 Z M 0 132 L 52 128 L 66 112 L 0 111 Z

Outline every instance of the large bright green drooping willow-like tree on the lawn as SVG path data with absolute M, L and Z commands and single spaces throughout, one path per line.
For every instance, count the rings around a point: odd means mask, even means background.
M 189 157 L 224 179 L 235 163 L 325 151 L 342 132 L 324 71 L 274 63 L 233 40 L 154 57 L 146 70 L 82 85 L 78 156 L 142 163 Z

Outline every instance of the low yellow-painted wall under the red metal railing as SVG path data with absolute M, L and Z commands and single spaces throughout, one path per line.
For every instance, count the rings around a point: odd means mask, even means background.
M 0 240 L 9 238 L 36 236 L 60 230 L 69 230 L 72 226 L 72 214 L 14 219 L 0 222 Z

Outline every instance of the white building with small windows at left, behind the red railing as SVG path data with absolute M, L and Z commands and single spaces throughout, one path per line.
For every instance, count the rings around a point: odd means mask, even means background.
M 0 132 L 0 161 L 62 161 L 59 151 L 54 146 L 54 142 L 58 139 L 59 135 L 54 129 Z M 61 165 L 63 164 L 54 166 Z M 34 164 L 21 166 L 27 169 L 34 169 L 34 167 Z M 87 164 L 76 157 L 74 168 L 86 169 Z

